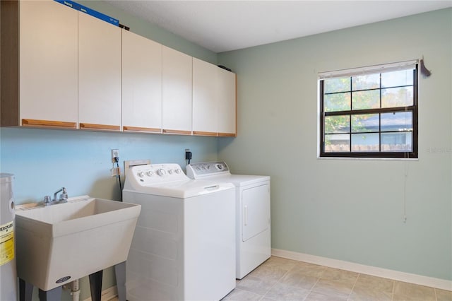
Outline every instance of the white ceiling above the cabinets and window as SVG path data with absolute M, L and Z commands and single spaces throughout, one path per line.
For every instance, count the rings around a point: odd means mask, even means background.
M 452 0 L 104 1 L 213 52 L 452 7 Z

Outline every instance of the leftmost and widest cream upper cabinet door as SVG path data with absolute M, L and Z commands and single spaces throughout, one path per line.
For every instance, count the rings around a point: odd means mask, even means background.
M 20 1 L 20 124 L 77 127 L 77 15 Z

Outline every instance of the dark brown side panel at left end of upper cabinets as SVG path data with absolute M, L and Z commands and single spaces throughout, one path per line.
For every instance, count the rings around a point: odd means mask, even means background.
M 19 124 L 19 1 L 0 1 L 0 126 Z

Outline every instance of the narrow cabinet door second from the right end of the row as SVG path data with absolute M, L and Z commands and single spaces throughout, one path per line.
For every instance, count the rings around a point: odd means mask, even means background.
M 218 66 L 193 58 L 193 134 L 217 136 Z

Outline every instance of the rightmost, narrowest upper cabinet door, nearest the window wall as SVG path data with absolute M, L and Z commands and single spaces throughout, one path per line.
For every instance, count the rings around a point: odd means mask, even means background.
M 237 136 L 236 75 L 218 68 L 218 136 Z

